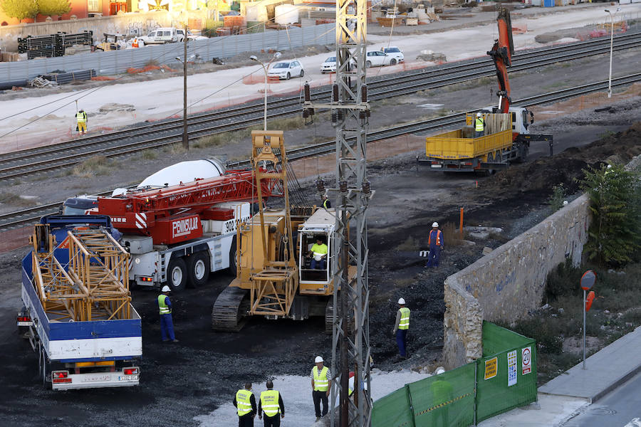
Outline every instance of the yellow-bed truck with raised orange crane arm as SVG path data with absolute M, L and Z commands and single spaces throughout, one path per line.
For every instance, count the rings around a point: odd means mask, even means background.
M 509 11 L 501 8 L 496 19 L 499 38 L 487 54 L 494 60 L 496 78 L 499 81 L 499 103 L 485 107 L 479 112 L 466 115 L 462 129 L 427 137 L 425 154 L 427 163 L 434 172 L 483 172 L 491 174 L 506 169 L 511 163 L 523 162 L 529 152 L 531 141 L 546 141 L 552 152 L 552 135 L 531 134 L 528 127 L 534 122 L 533 112 L 525 107 L 511 105 L 511 89 L 508 67 L 514 54 L 512 27 Z M 483 119 L 483 135 L 477 136 L 475 120 Z

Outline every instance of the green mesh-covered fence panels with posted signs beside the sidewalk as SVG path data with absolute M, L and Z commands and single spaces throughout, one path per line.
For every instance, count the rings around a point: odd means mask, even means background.
M 536 401 L 536 342 L 483 323 L 483 357 L 374 402 L 372 427 L 468 427 Z

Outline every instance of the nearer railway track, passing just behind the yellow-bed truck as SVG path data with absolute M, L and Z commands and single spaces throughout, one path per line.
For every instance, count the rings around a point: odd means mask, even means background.
M 614 78 L 612 80 L 613 88 L 622 85 L 630 85 L 641 81 L 641 73 L 636 73 L 633 75 L 628 75 L 622 78 Z M 541 95 L 535 95 L 531 97 L 525 97 L 520 100 L 513 100 L 514 105 L 521 105 L 523 107 L 531 107 L 532 105 L 538 105 L 546 102 L 558 102 L 562 100 L 569 99 L 571 97 L 577 97 L 580 95 L 586 95 L 598 90 L 605 90 L 608 88 L 608 80 L 603 80 L 595 83 L 588 83 L 586 85 L 575 86 L 573 88 L 557 90 L 552 93 L 545 93 Z M 368 132 L 368 142 L 380 141 L 382 139 L 388 139 L 392 137 L 397 137 L 400 135 L 406 135 L 410 133 L 422 133 L 429 132 L 431 130 L 436 130 L 442 127 L 449 127 L 452 125 L 459 125 L 465 121 L 464 112 L 447 115 L 444 117 L 436 117 L 434 119 L 422 120 L 418 122 L 404 123 L 402 125 L 396 125 L 392 127 L 387 127 L 382 130 L 373 130 Z M 316 157 L 323 154 L 333 153 L 335 150 L 336 144 L 335 141 L 322 142 L 320 144 L 314 144 L 308 147 L 301 147 L 288 150 L 288 158 L 290 161 L 297 159 L 305 159 L 308 157 Z M 248 167 L 250 164 L 249 160 L 244 160 L 241 162 L 232 162 L 227 164 L 227 167 L 230 169 L 234 168 L 243 168 Z M 99 195 L 108 195 L 111 194 L 111 191 L 105 191 Z M 0 215 L 0 231 L 8 230 L 10 228 L 16 228 L 19 226 L 25 226 L 30 223 L 37 222 L 39 218 L 46 214 L 55 214 L 58 212 L 59 207 L 61 206 L 62 201 L 46 204 L 42 206 L 36 206 L 30 209 L 24 209 L 21 211 L 11 212 L 9 214 Z

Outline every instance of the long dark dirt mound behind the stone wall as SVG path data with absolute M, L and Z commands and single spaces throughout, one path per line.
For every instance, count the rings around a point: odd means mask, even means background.
M 586 167 L 598 167 L 601 162 L 626 164 L 640 153 L 641 122 L 637 122 L 625 132 L 608 135 L 585 147 L 568 148 L 553 157 L 514 165 L 486 179 L 480 193 L 492 199 L 528 191 L 551 194 L 553 186 L 563 184 L 573 194 L 578 191 L 575 179 L 583 176 Z

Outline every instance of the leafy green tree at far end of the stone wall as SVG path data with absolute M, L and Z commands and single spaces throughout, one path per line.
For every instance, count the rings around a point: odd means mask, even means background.
M 622 166 L 583 169 L 592 223 L 584 251 L 600 265 L 619 266 L 641 248 L 641 186 Z

